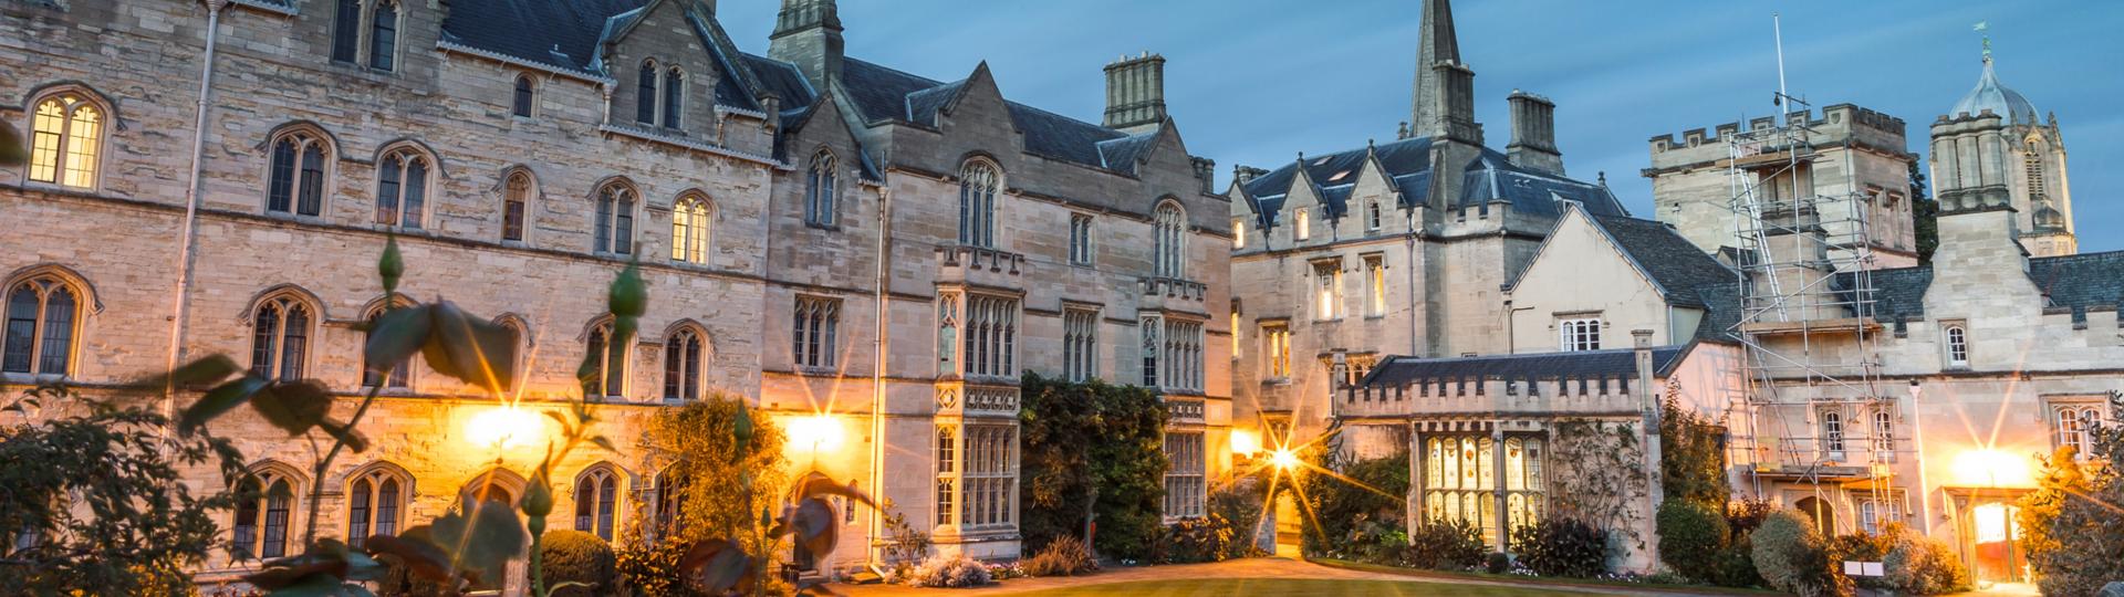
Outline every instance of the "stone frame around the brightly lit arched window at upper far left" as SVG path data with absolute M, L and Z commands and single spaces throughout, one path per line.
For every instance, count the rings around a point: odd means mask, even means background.
M 47 102 L 53 102 L 53 106 L 57 106 L 59 110 L 59 115 L 55 115 L 59 125 L 57 132 L 49 127 L 38 127 L 38 121 L 45 121 L 45 117 L 53 117 L 53 115 L 40 117 L 40 110 L 45 108 Z M 89 117 L 93 117 L 93 134 L 87 138 L 83 138 L 74 130 L 74 125 L 81 121 L 83 110 L 91 110 Z M 110 132 L 119 121 L 110 100 L 104 100 L 102 93 L 96 93 L 96 89 L 89 89 L 85 85 L 53 85 L 38 89 L 30 98 L 30 102 L 23 104 L 21 113 L 23 113 L 21 130 L 28 132 L 23 136 L 23 144 L 30 151 L 30 159 L 23 164 L 21 170 L 23 185 L 47 187 L 47 189 L 76 189 L 89 193 L 104 189 L 104 174 L 108 172 L 108 161 L 110 161 Z M 51 168 L 49 181 L 36 176 L 38 155 L 42 153 L 38 151 L 38 140 L 45 134 L 51 134 L 51 149 L 49 149 L 51 161 L 42 166 Z M 85 172 L 83 176 L 87 176 L 87 185 L 74 185 L 68 183 L 68 155 L 70 153 L 79 155 L 79 151 L 74 151 L 74 144 L 83 140 L 91 144 L 91 151 L 87 153 L 89 164 L 81 168 L 81 172 Z

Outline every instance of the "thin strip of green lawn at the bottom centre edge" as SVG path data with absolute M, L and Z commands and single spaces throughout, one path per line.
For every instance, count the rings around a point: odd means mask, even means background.
M 1202 578 L 1202 580 L 1145 580 L 1109 582 L 1068 589 L 1047 589 L 1015 593 L 1026 597 L 1064 595 L 1151 595 L 1151 597 L 1221 597 L 1221 595 L 1294 595 L 1294 597 L 1340 597 L 1340 595 L 1470 595 L 1470 597 L 1546 597 L 1585 595 L 1521 586 L 1449 584 L 1415 580 L 1321 580 L 1321 578 Z

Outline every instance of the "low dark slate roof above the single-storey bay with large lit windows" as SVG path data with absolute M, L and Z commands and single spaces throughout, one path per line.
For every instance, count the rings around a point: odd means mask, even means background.
M 1655 346 L 1652 348 L 1652 370 L 1667 374 L 1682 355 L 1689 355 L 1693 344 L 1680 346 Z M 1536 355 L 1493 355 L 1493 357 L 1453 357 L 1453 359 L 1419 359 L 1419 357 L 1387 357 L 1372 368 L 1372 374 L 1364 376 L 1357 385 L 1372 389 L 1404 387 L 1415 380 L 1438 380 L 1438 378 L 1616 378 L 1638 374 L 1638 351 L 1633 348 L 1612 348 L 1612 351 L 1576 351 L 1576 353 L 1536 353 Z

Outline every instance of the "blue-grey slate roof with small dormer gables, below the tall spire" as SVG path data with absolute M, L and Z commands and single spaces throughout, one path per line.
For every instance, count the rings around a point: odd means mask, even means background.
M 1277 212 L 1300 181 L 1311 178 L 1315 195 L 1325 204 L 1325 217 L 1349 212 L 1349 193 L 1364 172 L 1366 153 L 1378 159 L 1381 170 L 1402 191 L 1402 206 L 1429 202 L 1432 183 L 1432 138 L 1404 138 L 1383 144 L 1336 151 L 1328 155 L 1306 155 L 1304 176 L 1298 176 L 1300 161 L 1285 164 L 1268 174 L 1247 181 L 1247 198 L 1253 202 L 1257 225 L 1274 227 Z M 1510 202 L 1512 210 L 1531 215 L 1563 215 L 1561 200 L 1585 204 L 1587 212 L 1627 217 L 1623 202 L 1608 187 L 1580 183 L 1514 166 L 1504 153 L 1483 149 L 1483 153 L 1461 168 L 1461 195 L 1449 202 L 1451 208 L 1480 208 L 1489 202 Z

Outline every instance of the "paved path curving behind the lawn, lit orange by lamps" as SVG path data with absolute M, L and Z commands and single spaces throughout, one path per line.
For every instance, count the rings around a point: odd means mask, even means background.
M 1257 559 L 1234 559 L 1219 563 L 1189 563 L 1189 565 L 1147 565 L 1147 567 L 1121 567 L 1107 569 L 1092 576 L 1051 576 L 1051 578 L 1015 578 L 1000 584 L 979 586 L 979 589 L 909 589 L 901 584 L 835 584 L 833 589 L 850 597 L 892 597 L 892 595 L 1009 595 L 1041 589 L 1062 589 L 1062 586 L 1096 586 L 1111 582 L 1138 582 L 1138 580 L 1194 580 L 1194 578 L 1330 578 L 1330 580 L 1412 580 L 1412 582 L 1440 582 L 1440 584 L 1491 584 L 1491 586 L 1525 586 L 1544 591 L 1570 591 L 1570 593 L 1593 593 L 1593 595 L 1689 595 L 1674 591 L 1633 591 L 1627 586 L 1570 586 L 1570 584 L 1521 584 L 1502 580 L 1472 580 L 1461 576 L 1432 576 L 1421 569 L 1410 569 L 1408 574 L 1385 574 L 1385 572 L 1364 572 L 1364 569 L 1342 569 L 1308 561 L 1296 561 L 1285 557 L 1257 557 Z

